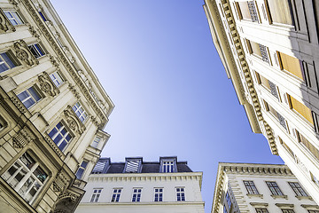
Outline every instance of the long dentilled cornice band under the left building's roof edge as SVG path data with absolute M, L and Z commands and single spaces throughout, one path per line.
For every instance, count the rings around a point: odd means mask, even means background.
M 108 121 L 107 117 L 105 116 L 107 112 L 105 112 L 104 114 L 100 109 L 100 106 L 97 105 L 96 99 L 93 97 L 93 95 L 87 88 L 87 85 L 82 82 L 82 77 L 78 75 L 77 71 L 74 69 L 72 62 L 67 58 L 64 51 L 61 50 L 54 36 L 51 35 L 51 31 L 50 29 L 48 29 L 49 27 L 43 22 L 42 19 L 40 19 L 38 12 L 35 10 L 35 6 L 31 3 L 30 0 L 21 0 L 21 3 L 24 4 L 27 11 L 35 20 L 37 27 L 42 32 L 42 35 L 47 39 L 48 43 L 51 44 L 52 49 L 56 52 L 59 61 L 61 61 L 64 67 L 66 67 L 66 70 L 73 77 L 74 81 L 78 84 L 80 90 L 84 94 L 84 97 L 88 100 L 89 104 L 97 113 L 97 116 L 101 119 L 101 127 L 104 127 L 105 123 Z

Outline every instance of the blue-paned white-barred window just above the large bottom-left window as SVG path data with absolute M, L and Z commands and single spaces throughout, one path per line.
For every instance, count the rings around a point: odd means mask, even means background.
M 68 130 L 66 130 L 66 127 L 62 122 L 58 122 L 58 124 L 49 133 L 49 136 L 61 151 L 66 148 L 67 144 L 72 139 L 71 134 Z

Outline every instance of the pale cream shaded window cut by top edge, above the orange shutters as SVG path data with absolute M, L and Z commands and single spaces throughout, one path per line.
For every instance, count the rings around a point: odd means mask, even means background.
M 290 0 L 268 0 L 267 3 L 272 22 L 293 25 Z

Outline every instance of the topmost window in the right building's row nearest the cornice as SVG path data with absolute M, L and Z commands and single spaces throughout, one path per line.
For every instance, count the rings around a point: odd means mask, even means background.
M 258 14 L 253 1 L 237 2 L 237 9 L 241 20 L 258 22 Z

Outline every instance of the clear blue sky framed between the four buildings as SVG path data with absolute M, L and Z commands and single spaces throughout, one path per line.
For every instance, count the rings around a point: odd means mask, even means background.
M 218 162 L 283 163 L 250 128 L 215 51 L 203 1 L 51 3 L 115 104 L 103 156 L 188 161 L 204 172 L 206 212 Z

